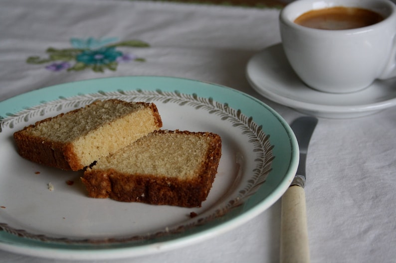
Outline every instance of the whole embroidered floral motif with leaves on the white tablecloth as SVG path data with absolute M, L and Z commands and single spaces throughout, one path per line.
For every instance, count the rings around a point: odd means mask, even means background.
M 56 49 L 49 47 L 45 52 L 48 58 L 38 56 L 28 57 L 29 64 L 46 64 L 45 68 L 57 72 L 62 70 L 80 71 L 91 69 L 94 72 L 104 72 L 105 69 L 117 70 L 118 63 L 130 61 L 145 61 L 135 54 L 124 53 L 117 47 L 149 47 L 148 43 L 140 40 L 116 42 L 117 38 L 87 39 L 71 38 L 72 48 Z M 116 42 L 116 43 L 114 43 Z

